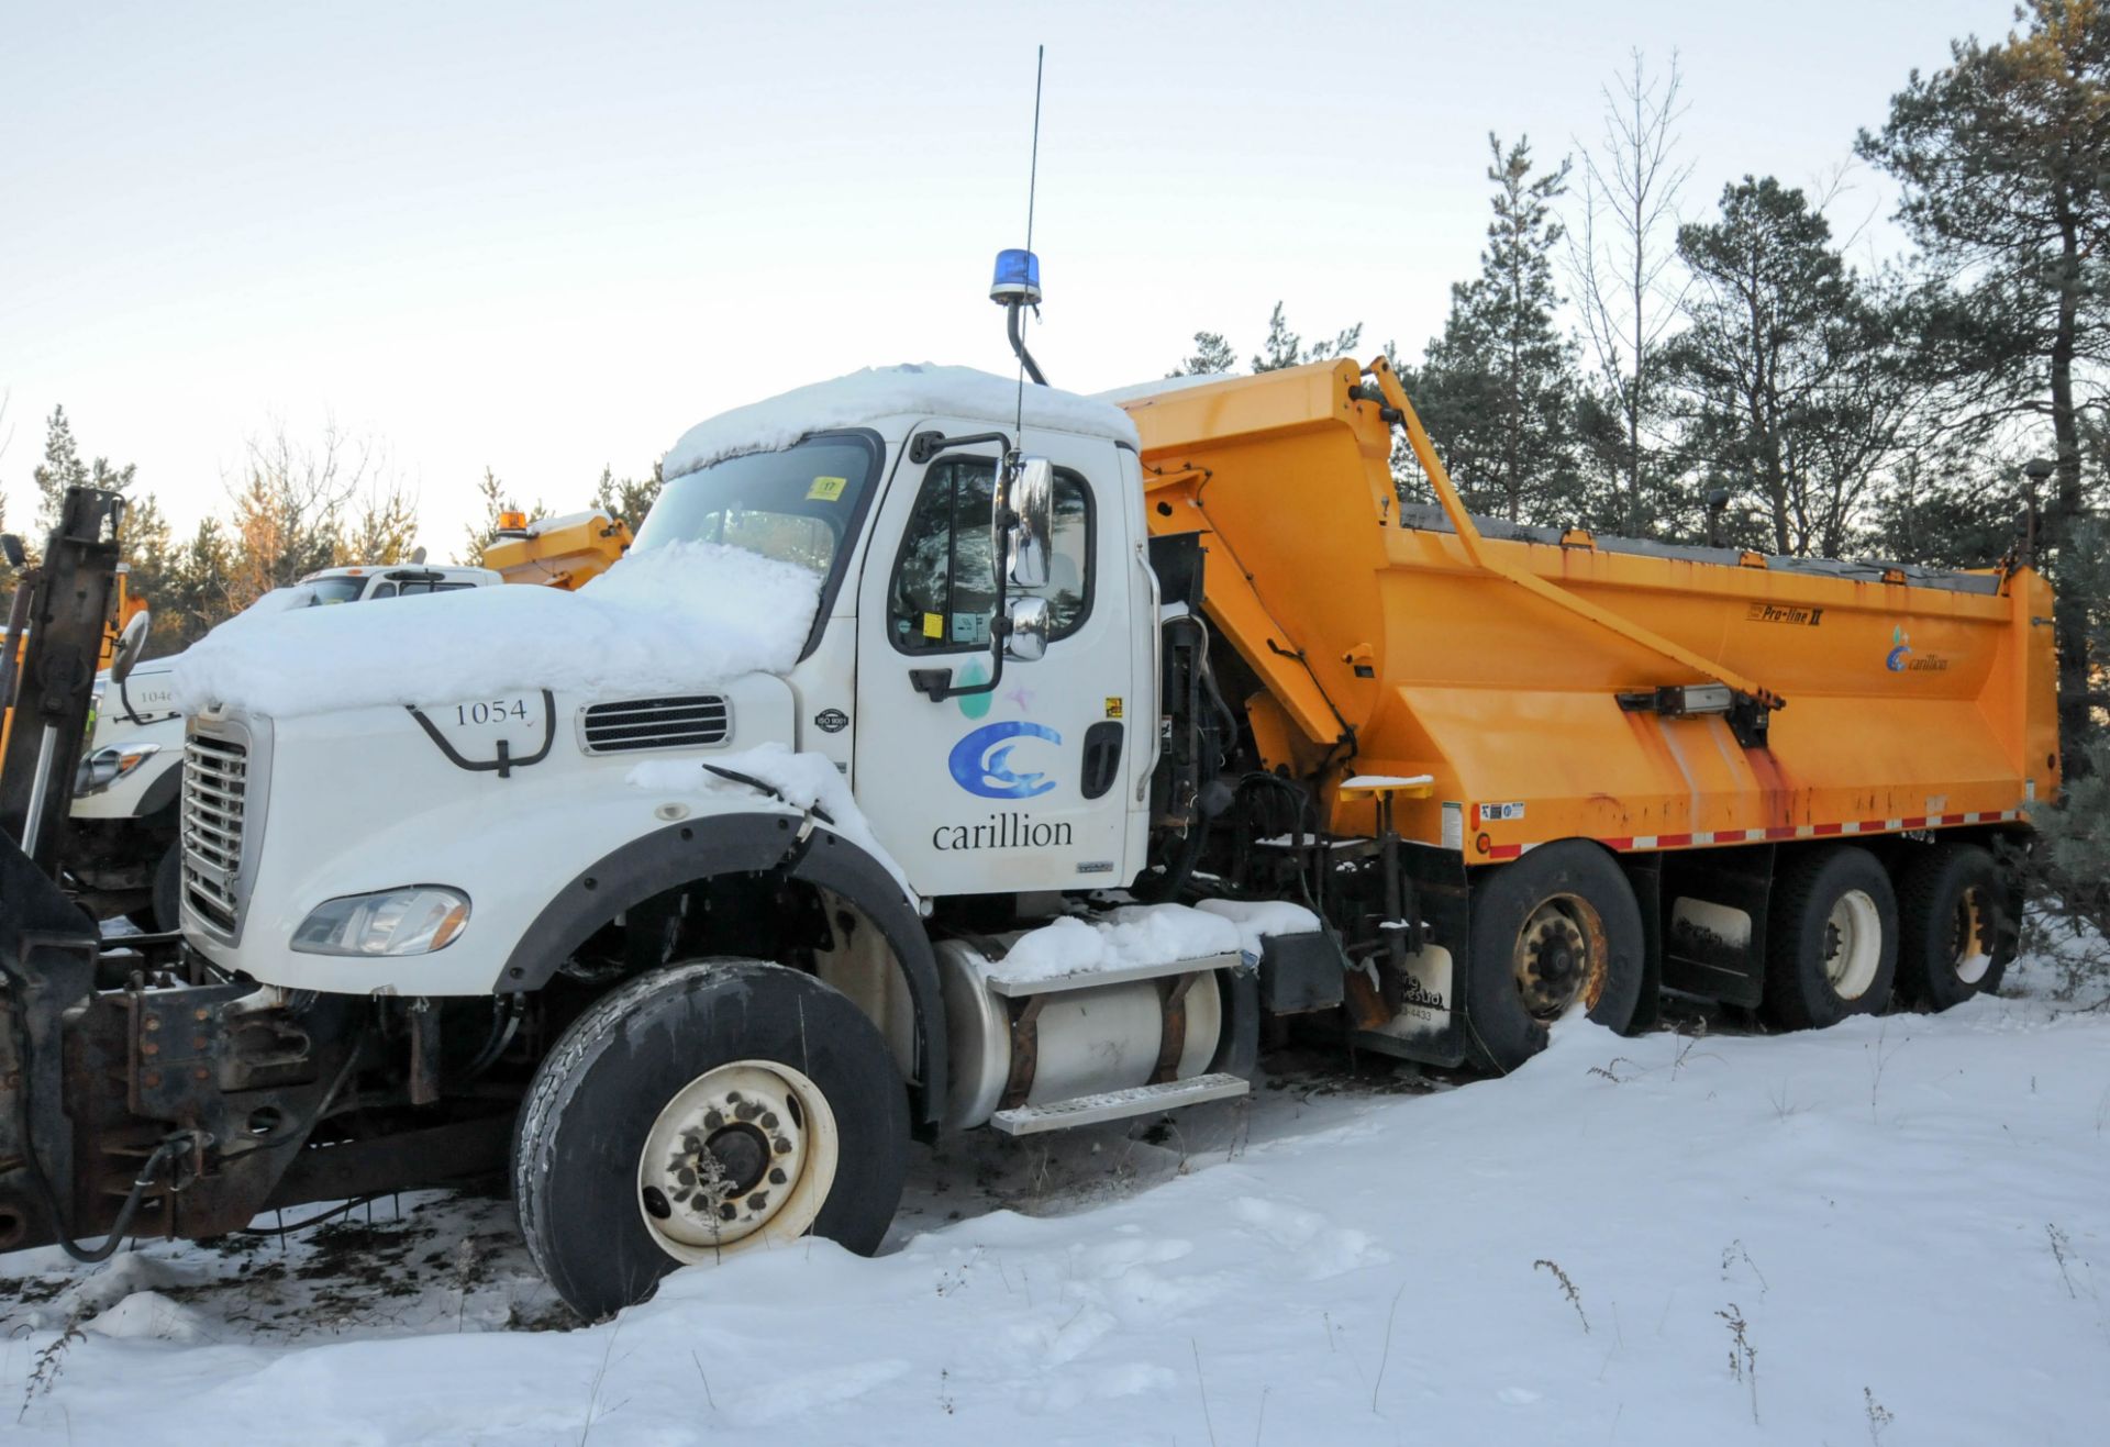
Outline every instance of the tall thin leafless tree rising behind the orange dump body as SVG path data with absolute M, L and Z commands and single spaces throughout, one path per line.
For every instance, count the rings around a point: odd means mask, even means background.
M 1677 194 L 1692 177 L 1692 162 L 1680 156 L 1682 84 L 1675 51 L 1669 70 L 1654 76 L 1633 51 L 1633 70 L 1604 86 L 1597 146 L 1576 141 L 1580 217 L 1568 236 L 1568 272 L 1601 388 L 1585 435 L 1612 483 L 1608 517 L 1635 534 L 1654 513 L 1644 432 L 1656 413 L 1661 350 L 1684 300 L 1673 270 Z

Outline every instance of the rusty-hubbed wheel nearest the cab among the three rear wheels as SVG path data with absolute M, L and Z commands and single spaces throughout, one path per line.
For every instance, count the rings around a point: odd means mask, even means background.
M 1542 844 L 1483 871 L 1464 987 L 1481 1067 L 1509 1074 L 1532 1059 L 1576 1004 L 1599 1025 L 1633 1025 L 1646 947 L 1633 886 L 1595 844 Z

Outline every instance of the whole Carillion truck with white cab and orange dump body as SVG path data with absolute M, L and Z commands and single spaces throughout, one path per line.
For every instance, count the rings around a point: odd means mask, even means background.
M 912 1137 L 1241 1095 L 1268 1017 L 1513 1069 L 1658 987 L 1825 1025 L 2013 949 L 2023 563 L 1473 519 L 1382 359 L 1120 405 L 867 371 L 665 472 L 534 618 L 241 620 L 179 675 L 188 975 L 93 989 L 17 852 L 0 1247 L 509 1169 L 601 1316 L 876 1249 Z

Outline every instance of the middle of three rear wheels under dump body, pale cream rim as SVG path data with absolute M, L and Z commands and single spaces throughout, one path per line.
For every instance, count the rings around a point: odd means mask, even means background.
M 1880 1015 L 1897 979 L 1897 894 L 1861 848 L 1825 848 L 1781 869 L 1766 922 L 1766 1015 L 1823 1029 Z

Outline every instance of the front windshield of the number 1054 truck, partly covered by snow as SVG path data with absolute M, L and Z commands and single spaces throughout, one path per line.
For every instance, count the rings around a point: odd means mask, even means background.
M 713 462 L 660 489 L 631 551 L 722 542 L 810 567 L 825 580 L 825 599 L 857 536 L 878 458 L 874 439 L 838 432 Z

